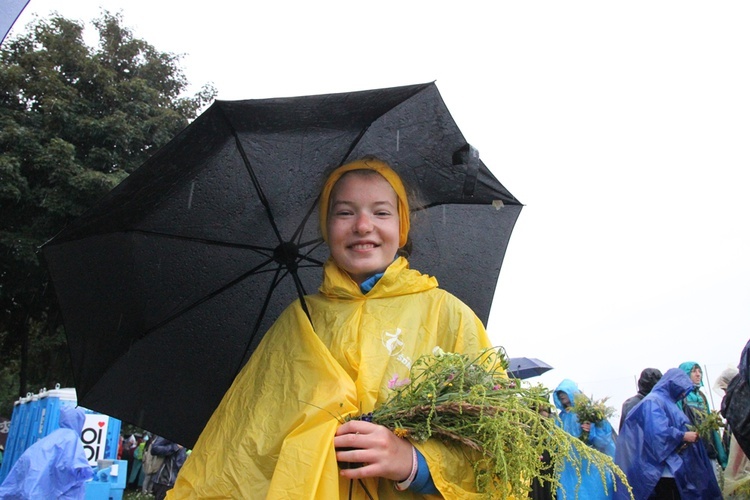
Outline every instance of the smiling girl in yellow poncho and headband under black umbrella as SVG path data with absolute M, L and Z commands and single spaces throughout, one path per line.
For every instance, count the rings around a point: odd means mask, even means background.
M 319 292 L 305 297 L 309 317 L 297 300 L 274 323 L 169 498 L 472 498 L 467 450 L 434 439 L 415 445 L 346 417 L 383 403 L 437 346 L 489 348 L 481 321 L 397 256 L 409 201 L 386 163 L 365 158 L 334 170 L 319 211 L 331 256 Z

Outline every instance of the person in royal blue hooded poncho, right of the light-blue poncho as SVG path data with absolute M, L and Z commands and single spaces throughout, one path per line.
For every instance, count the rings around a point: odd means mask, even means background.
M 722 498 L 706 448 L 677 406 L 692 390 L 685 372 L 671 368 L 625 418 L 615 463 L 636 500 Z M 618 489 L 615 498 L 628 498 L 627 492 Z

